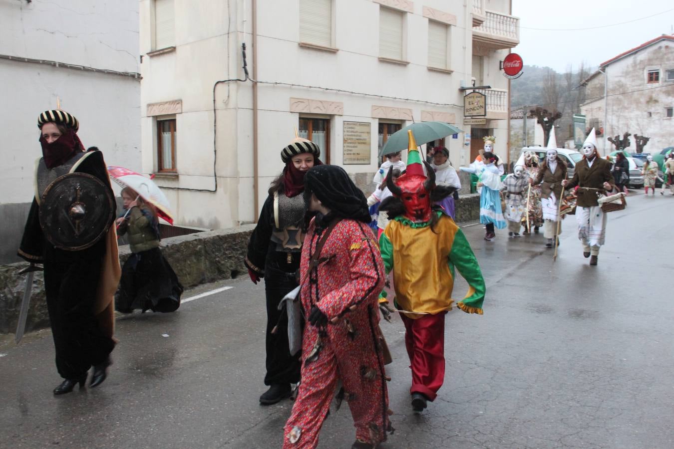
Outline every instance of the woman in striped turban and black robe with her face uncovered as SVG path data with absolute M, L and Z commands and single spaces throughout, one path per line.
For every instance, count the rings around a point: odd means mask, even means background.
M 264 277 L 267 302 L 264 384 L 269 388 L 259 398 L 262 405 L 290 397 L 290 384 L 297 384 L 300 378 L 301 360 L 290 355 L 288 326 L 286 322 L 280 322 L 286 318 L 278 310 L 278 304 L 297 287 L 295 272 L 299 269 L 306 233 L 307 204 L 302 195 L 305 174 L 309 168 L 321 164 L 319 156 L 318 145 L 301 137 L 296 137 L 281 150 L 285 167 L 269 187 L 269 196 L 248 242 L 244 263 L 253 283 L 257 284 Z

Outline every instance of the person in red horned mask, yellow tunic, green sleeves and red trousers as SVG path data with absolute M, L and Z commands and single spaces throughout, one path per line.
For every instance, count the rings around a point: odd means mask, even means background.
M 466 313 L 483 314 L 485 280 L 477 258 L 454 220 L 431 206 L 454 188 L 435 186 L 435 172 L 421 158 L 408 132 L 407 170 L 396 182 L 386 178 L 393 197 L 381 204 L 390 221 L 379 238 L 386 273 L 393 272 L 395 306 L 405 325 L 405 346 L 412 368 L 412 409 L 421 412 L 433 401 L 445 377 L 445 314 L 452 310 L 454 269 L 468 282 L 466 297 L 456 304 Z M 485 153 L 487 154 L 487 153 Z

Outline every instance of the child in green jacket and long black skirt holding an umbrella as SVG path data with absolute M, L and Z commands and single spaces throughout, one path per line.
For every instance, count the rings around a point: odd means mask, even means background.
M 122 189 L 125 213 L 117 219 L 117 234 L 129 236 L 131 255 L 122 267 L 115 308 L 122 313 L 175 312 L 183 285 L 159 249 L 159 219 L 152 204 L 130 187 Z

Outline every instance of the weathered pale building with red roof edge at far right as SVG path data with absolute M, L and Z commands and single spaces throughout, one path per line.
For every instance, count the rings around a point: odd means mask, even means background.
M 601 63 L 582 85 L 580 106 L 588 129 L 597 131 L 599 148 L 612 151 L 604 137 L 631 133 L 650 137 L 644 151 L 657 153 L 674 145 L 674 36 L 663 34 Z M 605 96 L 606 92 L 606 96 Z

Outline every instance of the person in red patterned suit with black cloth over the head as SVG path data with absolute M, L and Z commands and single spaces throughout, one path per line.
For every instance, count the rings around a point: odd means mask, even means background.
M 283 447 L 315 448 L 338 382 L 356 427 L 351 448 L 373 448 L 392 432 L 379 292 L 384 265 L 363 193 L 338 166 L 307 172 L 311 220 L 302 248 L 301 302 L 306 324 L 302 381 L 285 425 Z

